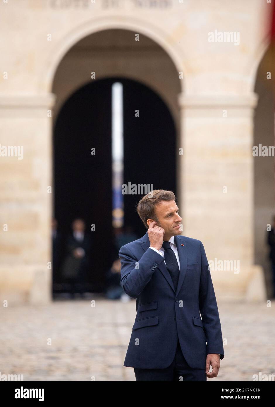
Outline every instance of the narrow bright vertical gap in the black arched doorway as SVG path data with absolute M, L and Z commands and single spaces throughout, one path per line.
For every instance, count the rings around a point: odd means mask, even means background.
M 114 228 L 124 225 L 123 184 L 123 86 L 112 85 L 112 223 Z

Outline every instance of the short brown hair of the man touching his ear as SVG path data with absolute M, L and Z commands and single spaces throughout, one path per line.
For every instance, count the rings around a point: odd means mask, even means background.
M 155 214 L 156 204 L 159 204 L 160 201 L 175 201 L 175 199 L 175 194 L 172 191 L 166 191 L 164 189 L 155 189 L 140 199 L 137 212 L 145 227 L 148 229 L 146 223 L 147 219 L 153 219 L 157 223 L 159 222 Z

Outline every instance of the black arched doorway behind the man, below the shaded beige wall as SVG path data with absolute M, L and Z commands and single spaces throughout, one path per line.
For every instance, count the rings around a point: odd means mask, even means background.
M 112 228 L 111 87 L 123 85 L 124 183 L 176 188 L 176 135 L 162 99 L 137 81 L 120 77 L 93 81 L 77 90 L 61 108 L 54 128 L 54 216 L 63 236 L 81 217 L 92 239 L 86 290 L 101 292 L 105 273 L 118 250 Z M 136 110 L 139 117 L 135 117 Z M 95 155 L 91 149 L 95 148 Z M 146 229 L 135 210 L 143 195 L 124 195 L 124 225 L 137 238 Z M 91 231 L 91 225 L 95 230 Z M 53 291 L 66 291 L 60 275 L 64 244 L 53 273 Z

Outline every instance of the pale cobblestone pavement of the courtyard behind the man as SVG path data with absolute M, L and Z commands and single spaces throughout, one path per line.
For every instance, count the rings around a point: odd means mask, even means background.
M 0 311 L 0 372 L 24 380 L 135 380 L 124 357 L 135 319 L 135 300 L 56 300 L 48 306 L 9 306 Z M 225 357 L 218 377 L 253 380 L 275 374 L 275 301 L 218 301 Z M 51 341 L 51 344 L 50 344 Z

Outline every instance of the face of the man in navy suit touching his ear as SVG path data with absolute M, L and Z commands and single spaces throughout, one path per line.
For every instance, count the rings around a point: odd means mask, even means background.
M 179 208 L 175 201 L 161 201 L 155 205 L 158 225 L 165 230 L 166 236 L 181 234 L 182 218 L 178 214 Z

